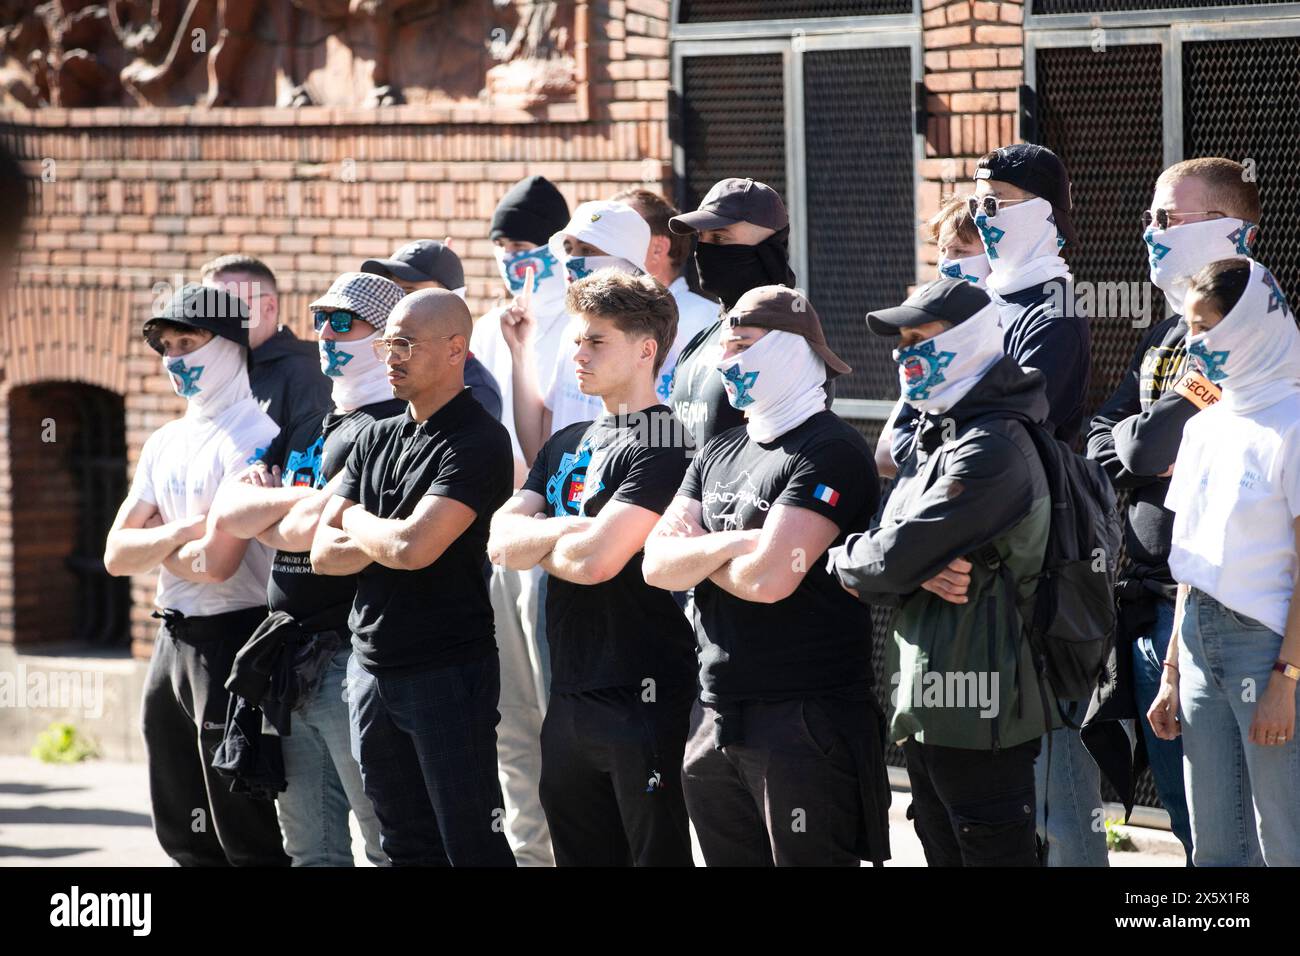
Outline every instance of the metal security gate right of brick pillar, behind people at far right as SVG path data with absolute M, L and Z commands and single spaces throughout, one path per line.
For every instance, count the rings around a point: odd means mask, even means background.
M 1295 299 L 1300 4 L 1174 5 L 1031 0 L 1022 134 L 1057 151 L 1070 170 L 1080 237 L 1066 250 L 1071 271 L 1078 280 L 1145 284 L 1140 216 L 1156 177 L 1182 159 L 1226 156 L 1257 178 L 1264 215 L 1256 255 Z M 1150 321 L 1158 321 L 1158 290 L 1152 307 Z M 1093 319 L 1091 407 L 1118 385 L 1145 330 L 1140 319 Z M 1149 773 L 1138 803 L 1160 806 Z

